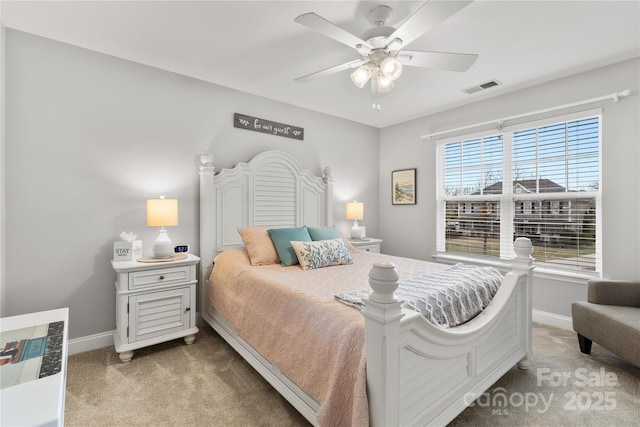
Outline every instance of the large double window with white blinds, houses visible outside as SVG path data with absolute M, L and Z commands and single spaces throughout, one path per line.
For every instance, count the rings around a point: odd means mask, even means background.
M 600 271 L 599 111 L 438 145 L 438 252 Z

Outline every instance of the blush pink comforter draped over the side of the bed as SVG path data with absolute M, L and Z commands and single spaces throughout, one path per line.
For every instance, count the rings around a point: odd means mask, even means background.
M 393 262 L 401 278 L 438 271 L 442 265 L 369 252 L 354 263 L 317 270 L 300 266 L 252 266 L 246 252 L 218 255 L 209 299 L 262 356 L 321 402 L 323 426 L 366 426 L 364 317 L 334 295 L 368 289 L 375 261 Z

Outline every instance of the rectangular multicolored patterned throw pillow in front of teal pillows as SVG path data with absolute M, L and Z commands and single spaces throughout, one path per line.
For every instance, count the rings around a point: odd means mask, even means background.
M 352 264 L 353 257 L 344 247 L 342 239 L 317 240 L 315 242 L 291 242 L 303 270 Z

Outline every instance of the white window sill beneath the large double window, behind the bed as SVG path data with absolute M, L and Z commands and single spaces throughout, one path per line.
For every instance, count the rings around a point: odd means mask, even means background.
M 506 273 L 511 269 L 511 263 L 505 260 L 465 257 L 462 255 L 452 255 L 452 254 L 447 254 L 442 252 L 435 253 L 434 255 L 432 255 L 432 258 L 437 262 L 442 262 L 445 264 L 455 264 L 457 262 L 463 262 L 465 264 L 495 267 L 498 270 L 502 271 L 503 273 Z M 600 274 L 596 272 L 581 273 L 577 271 L 576 272 L 563 271 L 563 270 L 549 268 L 548 266 L 541 265 L 541 264 L 534 263 L 534 265 L 536 267 L 533 270 L 534 278 L 557 280 L 560 282 L 586 285 L 588 280 L 599 279 L 601 277 Z

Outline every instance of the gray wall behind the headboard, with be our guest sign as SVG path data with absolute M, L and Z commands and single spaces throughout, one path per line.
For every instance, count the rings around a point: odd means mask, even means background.
M 6 313 L 70 308 L 70 337 L 115 328 L 113 241 L 149 255 L 145 200 L 179 200 L 175 243 L 199 247 L 196 159 L 217 167 L 279 149 L 333 167 L 336 225 L 365 202 L 378 234 L 379 131 L 137 63 L 6 30 Z M 235 129 L 233 113 L 303 127 L 304 141 Z

